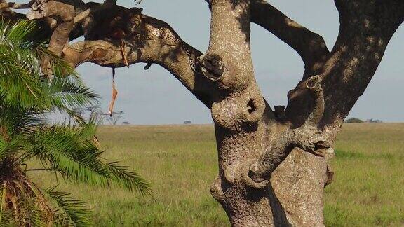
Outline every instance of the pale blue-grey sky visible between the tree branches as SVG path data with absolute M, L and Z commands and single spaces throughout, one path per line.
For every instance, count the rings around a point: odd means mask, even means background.
M 337 39 L 339 20 L 333 1 L 271 0 L 276 6 L 311 31 L 321 34 L 329 49 Z M 118 4 L 133 7 L 133 1 Z M 168 22 L 182 39 L 202 52 L 208 48 L 210 12 L 203 0 L 144 0 L 143 13 Z M 252 25 L 252 52 L 255 76 L 264 97 L 271 106 L 285 105 L 288 90 L 302 78 L 304 64 L 292 48 L 257 25 Z M 404 121 L 404 26 L 391 39 L 382 63 L 364 95 L 349 116 L 377 118 L 386 122 Z M 125 111 L 122 121 L 132 124 L 176 124 L 186 120 L 212 123 L 210 111 L 186 90 L 168 71 L 153 65 L 144 71 L 144 64 L 116 70 L 119 90 L 115 109 Z M 78 68 L 87 85 L 102 97 L 107 111 L 111 96 L 111 69 L 95 64 Z

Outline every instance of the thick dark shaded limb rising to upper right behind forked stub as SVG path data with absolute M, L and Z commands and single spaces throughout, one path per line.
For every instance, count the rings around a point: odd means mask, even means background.
M 335 0 L 339 35 L 321 68 L 325 112 L 320 127 L 335 137 L 382 60 L 386 46 L 404 20 L 404 1 Z M 286 115 L 295 124 L 311 113 L 307 78 L 288 94 Z

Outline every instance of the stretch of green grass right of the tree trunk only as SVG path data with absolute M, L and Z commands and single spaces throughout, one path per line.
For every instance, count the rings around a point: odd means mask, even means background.
M 325 188 L 326 226 L 404 226 L 404 124 L 345 124 Z

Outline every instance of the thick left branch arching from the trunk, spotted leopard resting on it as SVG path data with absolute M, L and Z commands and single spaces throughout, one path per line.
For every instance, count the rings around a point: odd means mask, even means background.
M 93 34 L 97 40 L 79 41 L 66 46 L 63 57 L 72 66 L 77 67 L 83 62 L 93 62 L 102 67 L 123 67 L 122 52 L 118 46 L 119 40 L 112 36 L 112 32 L 121 29 L 125 43 L 123 53 L 127 53 L 128 64 L 137 62 L 155 63 L 168 69 L 181 83 L 209 108 L 215 99 L 220 98 L 213 81 L 198 73 L 195 68 L 196 58 L 201 52 L 192 48 L 180 39 L 173 28 L 166 22 L 142 14 L 131 14 L 130 9 L 112 6 L 106 9 L 108 17 L 121 16 L 122 22 L 102 22 L 107 15 L 102 9 L 94 16 Z M 97 18 L 100 15 L 103 18 Z M 133 17 L 133 18 L 128 18 Z M 108 19 L 108 18 L 107 18 Z M 109 19 L 108 19 L 109 20 Z M 130 25 L 130 21 L 138 20 Z M 111 32 L 109 32 L 111 31 Z

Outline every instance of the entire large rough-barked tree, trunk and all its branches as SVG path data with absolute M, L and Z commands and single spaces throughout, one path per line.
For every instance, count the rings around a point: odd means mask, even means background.
M 123 67 L 159 64 L 212 113 L 219 176 L 210 192 L 233 226 L 323 226 L 323 188 L 330 183 L 334 141 L 363 94 L 391 36 L 404 20 L 402 0 L 335 0 L 340 30 L 331 51 L 323 38 L 264 0 L 212 0 L 206 53 L 180 39 L 172 27 L 123 8 L 81 0 L 0 0 L 0 16 L 25 18 L 11 8 L 31 8 L 49 50 L 72 66 L 93 62 Z M 74 19 L 73 19 L 74 18 Z M 250 22 L 288 43 L 302 57 L 302 81 L 288 106 L 272 111 L 257 86 L 250 54 Z M 84 36 L 85 41 L 68 43 Z M 43 72 L 48 64 L 43 61 Z

